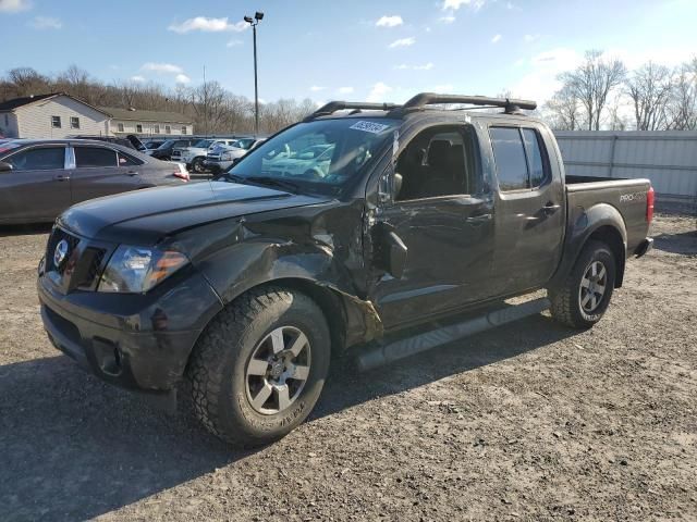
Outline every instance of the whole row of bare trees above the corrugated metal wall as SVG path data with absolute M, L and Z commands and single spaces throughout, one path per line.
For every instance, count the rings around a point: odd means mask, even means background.
M 562 87 L 541 110 L 554 129 L 697 129 L 697 57 L 675 69 L 647 62 L 628 71 L 590 50 L 558 79 Z

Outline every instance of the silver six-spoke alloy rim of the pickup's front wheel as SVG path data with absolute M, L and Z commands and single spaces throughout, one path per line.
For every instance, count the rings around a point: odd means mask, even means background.
M 295 326 L 273 330 L 254 348 L 245 368 L 249 406 L 265 415 L 288 410 L 303 391 L 309 369 L 307 336 Z

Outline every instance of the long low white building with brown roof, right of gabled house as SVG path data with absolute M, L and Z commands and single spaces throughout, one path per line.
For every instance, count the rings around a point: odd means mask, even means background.
M 123 136 L 137 134 L 139 136 L 179 136 L 194 134 L 191 119 L 176 112 L 142 111 L 139 109 L 119 109 L 117 107 L 100 107 L 108 113 L 109 134 Z

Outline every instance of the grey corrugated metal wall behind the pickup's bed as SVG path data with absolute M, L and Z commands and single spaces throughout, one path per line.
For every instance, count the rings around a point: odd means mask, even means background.
M 697 132 L 554 133 L 566 173 L 648 177 L 663 199 L 697 202 Z

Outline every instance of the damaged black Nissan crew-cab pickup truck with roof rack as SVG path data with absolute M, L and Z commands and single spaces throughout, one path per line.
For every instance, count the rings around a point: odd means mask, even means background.
M 590 327 L 651 247 L 653 190 L 564 178 L 534 108 L 331 102 L 216 181 L 74 206 L 39 265 L 46 331 L 108 382 L 188 380 L 208 430 L 255 445 L 308 415 L 332 353 L 367 370 L 547 308 Z

